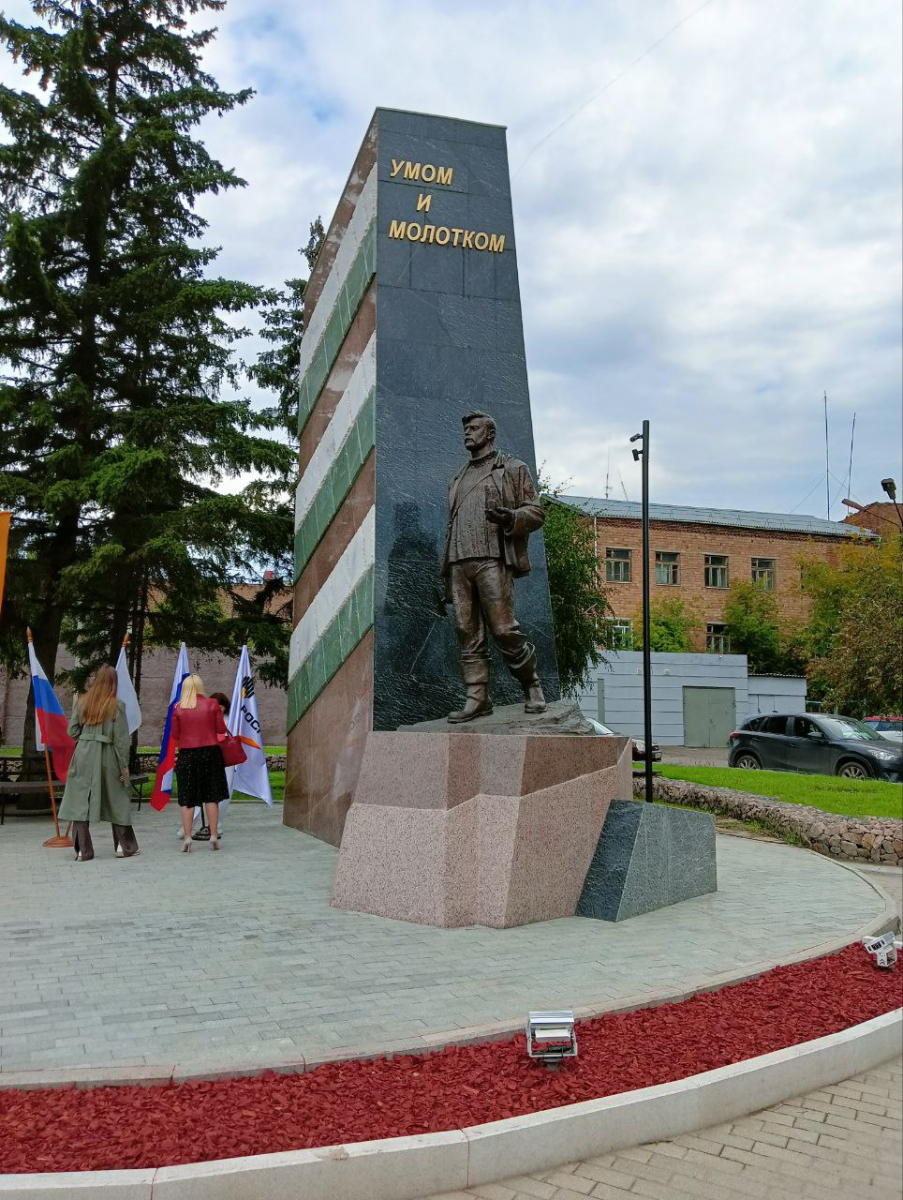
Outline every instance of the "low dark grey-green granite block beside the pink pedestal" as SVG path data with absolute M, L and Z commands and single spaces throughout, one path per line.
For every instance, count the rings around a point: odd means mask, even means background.
M 717 887 L 714 817 L 612 800 L 576 913 L 626 920 Z

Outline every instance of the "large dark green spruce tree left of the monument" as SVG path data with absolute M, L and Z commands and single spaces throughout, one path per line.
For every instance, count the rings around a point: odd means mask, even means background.
M 61 635 L 86 671 L 148 619 L 157 640 L 231 648 L 247 614 L 223 617 L 219 588 L 286 562 L 294 454 L 241 396 L 235 359 L 264 293 L 211 272 L 196 208 L 243 186 L 197 137 L 251 96 L 203 71 L 214 31 L 187 25 L 222 7 L 34 0 L 43 25 L 0 16 L 40 85 L 0 86 L 7 665 L 25 622 L 52 677 Z

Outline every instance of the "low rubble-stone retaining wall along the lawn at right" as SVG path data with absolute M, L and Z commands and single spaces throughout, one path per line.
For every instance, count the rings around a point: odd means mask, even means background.
M 641 778 L 634 779 L 633 790 L 635 796 L 642 794 Z M 903 821 L 895 817 L 844 817 L 771 796 L 660 776 L 654 780 L 654 796 L 669 804 L 689 804 L 738 821 L 761 821 L 776 834 L 795 834 L 803 846 L 849 863 L 903 865 Z

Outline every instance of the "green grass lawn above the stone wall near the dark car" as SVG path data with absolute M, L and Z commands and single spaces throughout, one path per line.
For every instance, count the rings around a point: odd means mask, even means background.
M 686 779 L 710 787 L 773 796 L 791 804 L 837 812 L 848 817 L 903 817 L 903 785 L 877 779 L 838 779 L 833 775 L 796 775 L 783 770 L 738 770 L 734 767 L 660 767 L 668 779 Z

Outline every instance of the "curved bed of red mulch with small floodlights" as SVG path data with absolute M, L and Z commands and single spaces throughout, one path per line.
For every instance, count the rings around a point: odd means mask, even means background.
M 198 1163 L 437 1133 L 666 1084 L 836 1033 L 901 1004 L 861 946 L 676 1004 L 598 1016 L 557 1072 L 524 1037 L 327 1063 L 305 1075 L 0 1092 L 0 1172 Z

